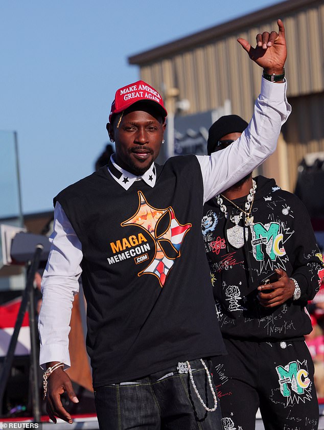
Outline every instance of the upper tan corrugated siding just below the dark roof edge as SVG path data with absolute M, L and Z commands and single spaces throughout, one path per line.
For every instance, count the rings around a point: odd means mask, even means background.
M 324 2 L 288 13 L 283 16 L 283 20 L 288 44 L 288 95 L 321 92 L 324 90 Z M 254 44 L 256 34 L 267 29 L 276 29 L 276 18 L 262 22 L 259 27 L 225 34 L 223 38 L 205 46 L 141 66 L 141 76 L 147 79 L 147 69 L 151 67 L 154 70 L 149 75 L 152 85 L 159 87 L 164 82 L 166 85 L 178 86 L 180 98 L 191 101 L 190 113 L 218 107 L 229 98 L 233 110 L 248 117 L 251 102 L 247 100 L 254 99 L 259 93 L 261 70 L 251 63 L 236 39 L 244 37 Z M 163 76 L 157 73 L 158 64 Z M 181 84 L 182 80 L 184 85 Z

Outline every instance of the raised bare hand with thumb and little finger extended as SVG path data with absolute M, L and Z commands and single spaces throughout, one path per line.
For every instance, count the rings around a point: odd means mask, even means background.
M 275 31 L 257 34 L 256 48 L 252 48 L 250 43 L 242 38 L 237 39 L 251 60 L 263 67 L 269 75 L 281 75 L 287 58 L 287 47 L 285 38 L 285 27 L 281 19 L 277 20 L 279 33 Z

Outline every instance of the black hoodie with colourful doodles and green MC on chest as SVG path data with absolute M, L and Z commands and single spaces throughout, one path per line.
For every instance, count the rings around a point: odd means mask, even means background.
M 221 332 L 224 337 L 242 340 L 303 338 L 312 329 L 306 305 L 324 274 L 322 256 L 303 203 L 281 190 L 274 179 L 258 176 L 254 180 L 253 225 L 245 228 L 242 247 L 230 245 L 230 234 L 226 235 L 235 227 L 230 218 L 241 211 L 223 199 L 226 219 L 216 197 L 204 206 L 202 233 Z M 234 200 L 242 209 L 245 201 L 246 197 Z M 238 225 L 243 228 L 243 223 L 244 214 Z M 266 309 L 259 304 L 257 288 L 275 268 L 282 268 L 298 282 L 302 296 Z

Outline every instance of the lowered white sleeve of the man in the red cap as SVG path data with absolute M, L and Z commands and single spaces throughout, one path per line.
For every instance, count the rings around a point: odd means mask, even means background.
M 57 202 L 51 251 L 41 283 L 42 304 L 38 318 L 39 361 L 62 361 L 69 367 L 68 333 L 74 295 L 79 291 L 82 246 L 63 208 Z

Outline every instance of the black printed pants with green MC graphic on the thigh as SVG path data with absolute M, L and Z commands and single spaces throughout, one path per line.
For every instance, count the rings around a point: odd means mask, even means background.
M 316 430 L 314 365 L 303 341 L 225 339 L 228 355 L 213 358 L 213 378 L 227 429 L 253 430 L 258 408 L 265 430 Z

